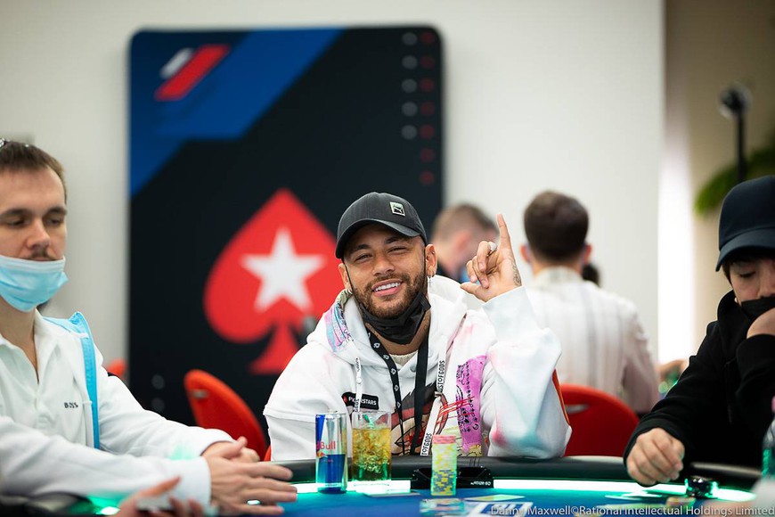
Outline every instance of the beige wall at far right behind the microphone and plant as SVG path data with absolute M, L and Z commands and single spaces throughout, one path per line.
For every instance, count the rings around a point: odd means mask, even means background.
M 719 209 L 700 217 L 689 206 L 719 169 L 736 163 L 735 122 L 718 110 L 722 90 L 738 82 L 753 94 L 746 113 L 746 152 L 771 145 L 775 135 L 775 2 L 671 0 L 665 14 L 665 190 L 670 185 L 670 196 L 684 204 L 673 206 L 674 217 L 659 229 L 665 250 L 659 308 L 660 315 L 667 314 L 660 317 L 659 329 L 671 338 L 665 348 L 681 349 L 673 356 L 681 357 L 697 349 L 719 300 L 730 291 L 724 275 L 715 272 Z

